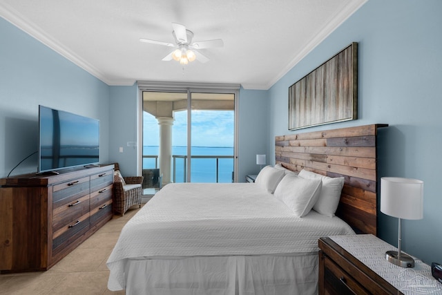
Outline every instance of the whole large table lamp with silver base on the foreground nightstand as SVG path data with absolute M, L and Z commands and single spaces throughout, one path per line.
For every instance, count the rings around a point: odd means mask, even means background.
M 381 178 L 381 212 L 398 218 L 398 251 L 385 257 L 400 267 L 414 267 L 414 259 L 401 252 L 401 220 L 423 218 L 423 181 L 410 178 Z

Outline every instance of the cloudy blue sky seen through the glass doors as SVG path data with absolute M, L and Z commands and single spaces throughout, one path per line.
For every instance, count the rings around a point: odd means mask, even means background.
M 175 112 L 173 122 L 173 146 L 187 145 L 187 112 Z M 192 146 L 233 147 L 235 130 L 234 111 L 192 111 Z M 143 113 L 143 145 L 158 146 L 160 140 L 158 122 Z

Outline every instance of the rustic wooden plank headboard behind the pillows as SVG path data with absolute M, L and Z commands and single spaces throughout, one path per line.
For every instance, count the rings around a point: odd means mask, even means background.
M 376 134 L 372 124 L 275 137 L 276 164 L 345 178 L 336 216 L 356 233 L 376 236 Z

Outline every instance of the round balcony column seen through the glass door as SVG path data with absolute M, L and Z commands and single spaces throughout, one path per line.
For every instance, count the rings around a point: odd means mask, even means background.
M 162 174 L 162 185 L 171 183 L 172 164 L 172 126 L 173 117 L 157 117 L 160 125 L 160 173 Z

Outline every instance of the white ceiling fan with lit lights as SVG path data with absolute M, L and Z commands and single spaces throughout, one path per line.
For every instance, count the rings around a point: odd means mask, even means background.
M 169 47 L 177 47 L 169 55 L 166 55 L 162 60 L 170 61 L 175 59 L 180 61 L 180 64 L 188 64 L 189 61 L 194 61 L 198 59 L 202 63 L 209 61 L 209 58 L 198 52 L 198 49 L 214 48 L 224 46 L 222 39 L 213 39 L 206 41 L 193 42 L 193 32 L 187 30 L 185 26 L 180 25 L 180 23 L 172 23 L 173 32 L 172 35 L 175 38 L 175 44 L 156 41 L 151 39 L 140 38 L 140 41 L 150 44 L 164 45 Z

